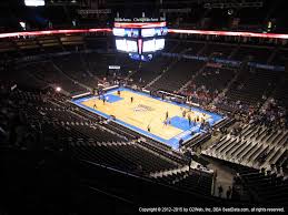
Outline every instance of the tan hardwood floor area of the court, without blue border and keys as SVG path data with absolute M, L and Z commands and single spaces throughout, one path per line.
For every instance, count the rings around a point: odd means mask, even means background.
M 118 98 L 117 92 L 107 94 L 108 100 L 110 98 Z M 131 96 L 133 102 L 131 103 Z M 168 111 L 169 117 L 179 116 L 182 117 L 182 111 L 186 110 L 190 114 L 192 121 L 197 115 L 199 119 L 209 119 L 210 115 L 203 115 L 201 112 L 192 111 L 189 109 L 181 108 L 177 104 L 165 102 L 150 98 L 149 95 L 142 95 L 131 91 L 121 91 L 120 100 L 118 98 L 115 102 L 106 102 L 103 104 L 102 100 L 93 98 L 81 102 L 81 104 L 100 111 L 107 115 L 115 115 L 116 119 L 147 131 L 148 125 L 150 126 L 150 133 L 157 135 L 165 140 L 170 140 L 173 136 L 183 132 L 183 130 L 178 129 L 172 125 L 165 125 L 166 112 Z M 186 117 L 187 119 L 187 117 Z

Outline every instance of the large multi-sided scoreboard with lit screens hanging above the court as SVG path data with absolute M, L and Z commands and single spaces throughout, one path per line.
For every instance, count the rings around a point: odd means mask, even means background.
M 115 22 L 113 28 L 116 49 L 137 60 L 149 60 L 153 53 L 162 50 L 167 33 L 165 21 Z

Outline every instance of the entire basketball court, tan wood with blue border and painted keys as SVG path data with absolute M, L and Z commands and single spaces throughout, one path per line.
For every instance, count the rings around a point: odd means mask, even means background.
M 197 133 L 202 133 L 201 122 L 209 122 L 212 126 L 222 119 L 218 114 L 201 109 L 189 108 L 186 104 L 161 100 L 125 88 L 108 91 L 103 96 L 82 98 L 72 102 L 173 149 L 178 149 L 180 139 L 186 142 Z M 186 112 L 185 116 L 183 112 Z

